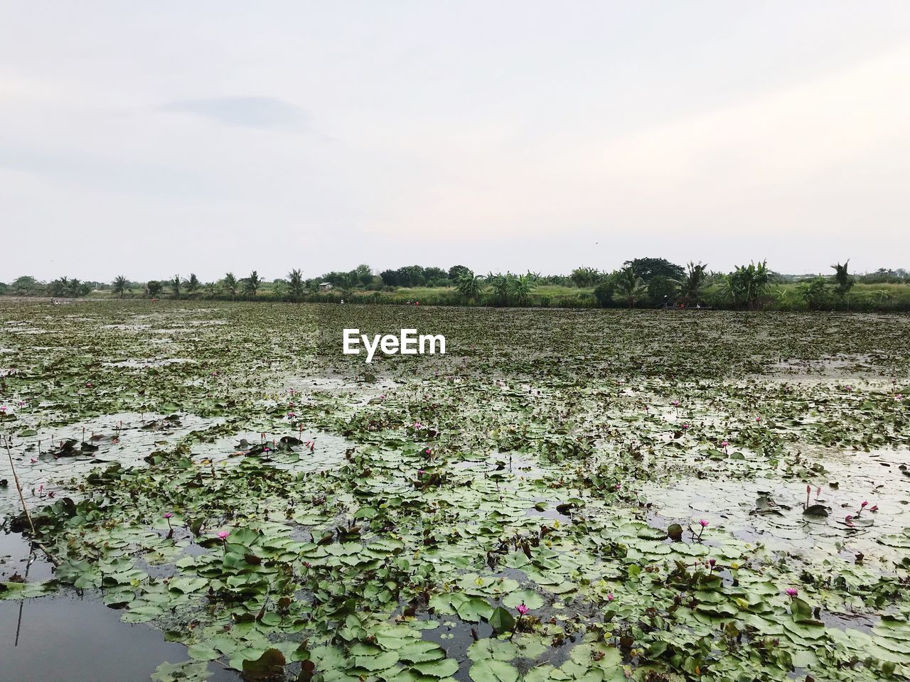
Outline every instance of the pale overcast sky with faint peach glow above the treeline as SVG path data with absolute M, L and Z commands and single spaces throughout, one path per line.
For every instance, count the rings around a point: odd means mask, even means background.
M 0 281 L 910 267 L 910 3 L 0 0 Z

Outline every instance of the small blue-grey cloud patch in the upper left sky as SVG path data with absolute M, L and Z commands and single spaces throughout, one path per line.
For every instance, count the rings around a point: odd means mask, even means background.
M 300 125 L 307 112 L 278 97 L 211 97 L 168 102 L 158 107 L 169 114 L 188 114 L 225 125 L 275 128 Z

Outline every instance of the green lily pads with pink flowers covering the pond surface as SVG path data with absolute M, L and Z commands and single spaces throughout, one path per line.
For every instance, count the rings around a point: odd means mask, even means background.
M 905 317 L 77 313 L 0 306 L 56 563 L 0 600 L 157 628 L 187 648 L 154 680 L 910 675 Z M 402 326 L 449 355 L 340 353 Z M 0 514 L 31 536 L 12 483 Z

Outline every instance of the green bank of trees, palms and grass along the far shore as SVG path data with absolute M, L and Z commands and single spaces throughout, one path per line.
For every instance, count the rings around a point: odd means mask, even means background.
M 299 269 L 266 280 L 227 273 L 202 282 L 195 274 L 136 282 L 118 276 L 111 283 L 59 277 L 41 282 L 21 276 L 0 283 L 0 295 L 63 297 L 147 297 L 212 300 L 264 300 L 308 303 L 360 303 L 432 306 L 534 306 L 627 308 L 720 308 L 746 310 L 910 311 L 910 273 L 881 268 L 854 275 L 849 260 L 827 274 L 782 275 L 765 261 L 733 272 L 687 266 L 664 258 L 636 258 L 612 272 L 577 267 L 569 275 L 474 273 L 466 266 L 403 266 L 379 274 L 367 265 L 348 272 L 306 278 Z

